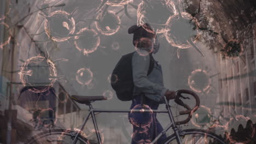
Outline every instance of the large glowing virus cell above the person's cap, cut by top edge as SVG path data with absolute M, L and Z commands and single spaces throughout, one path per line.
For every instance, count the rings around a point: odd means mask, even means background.
M 142 1 L 137 9 L 137 24 L 143 26 L 144 23 L 149 23 L 154 28 L 154 31 L 158 29 L 158 32 L 162 33 L 170 15 L 176 13 L 177 11 L 172 1 Z

